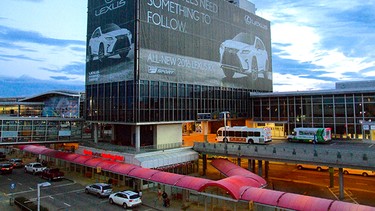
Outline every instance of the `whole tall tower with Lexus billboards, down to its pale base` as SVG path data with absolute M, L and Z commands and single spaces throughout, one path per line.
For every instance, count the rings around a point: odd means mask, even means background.
M 112 142 L 139 149 L 181 144 L 171 131 L 199 113 L 249 118 L 248 92 L 272 91 L 270 23 L 234 3 L 89 1 L 85 118 L 94 133 L 110 125 Z

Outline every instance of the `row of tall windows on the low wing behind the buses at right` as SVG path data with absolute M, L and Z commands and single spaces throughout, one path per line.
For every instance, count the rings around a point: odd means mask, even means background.
M 375 93 L 254 98 L 255 121 L 287 122 L 295 127 L 330 127 L 333 134 L 362 134 L 362 121 L 375 120 Z M 356 138 L 356 137 L 351 137 Z

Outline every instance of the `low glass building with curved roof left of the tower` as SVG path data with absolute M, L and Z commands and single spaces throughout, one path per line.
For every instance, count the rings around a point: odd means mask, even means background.
M 0 100 L 0 142 L 55 142 L 82 139 L 81 100 L 72 91 L 50 91 Z

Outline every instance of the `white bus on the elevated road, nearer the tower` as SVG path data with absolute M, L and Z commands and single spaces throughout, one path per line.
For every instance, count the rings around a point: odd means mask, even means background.
M 226 135 L 225 135 L 226 134 Z M 270 128 L 249 128 L 246 126 L 221 127 L 217 130 L 218 142 L 237 142 L 249 144 L 265 144 L 272 141 Z

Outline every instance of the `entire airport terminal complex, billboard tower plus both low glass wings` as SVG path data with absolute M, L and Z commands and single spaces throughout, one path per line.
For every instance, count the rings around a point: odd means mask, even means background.
M 80 139 L 88 129 L 93 146 L 178 148 L 185 132 L 216 133 L 223 111 L 227 125 L 274 137 L 329 127 L 333 138 L 375 139 L 374 81 L 272 92 L 270 23 L 255 5 L 161 2 L 90 1 L 85 93 L 2 99 L 1 141 Z

